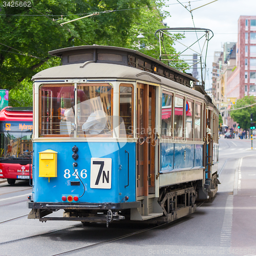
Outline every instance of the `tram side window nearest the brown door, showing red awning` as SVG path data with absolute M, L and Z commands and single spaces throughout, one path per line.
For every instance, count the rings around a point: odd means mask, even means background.
M 162 94 L 162 136 L 172 136 L 173 95 Z

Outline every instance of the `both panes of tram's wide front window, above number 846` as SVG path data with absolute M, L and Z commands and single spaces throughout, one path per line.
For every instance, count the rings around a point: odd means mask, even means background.
M 107 83 L 77 84 L 76 90 L 75 84 L 42 85 L 39 136 L 112 136 L 112 95 L 112 86 Z

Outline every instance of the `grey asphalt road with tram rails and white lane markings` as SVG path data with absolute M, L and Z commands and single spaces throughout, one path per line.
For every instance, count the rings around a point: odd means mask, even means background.
M 221 184 L 214 200 L 190 216 L 157 227 L 120 221 L 107 229 L 98 224 L 28 220 L 28 183 L 1 183 L 0 256 L 256 255 L 256 151 L 250 150 L 250 143 L 221 138 Z

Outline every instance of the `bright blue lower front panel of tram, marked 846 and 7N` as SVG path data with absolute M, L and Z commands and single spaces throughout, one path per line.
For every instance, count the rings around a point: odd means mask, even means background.
M 78 148 L 76 160 L 72 158 L 73 146 Z M 125 202 L 125 196 L 129 202 L 136 201 L 135 146 L 116 142 L 33 143 L 33 201 L 67 202 L 63 196 L 78 196 L 73 203 L 120 203 Z M 39 177 L 39 153 L 46 150 L 57 152 L 57 177 Z M 125 151 L 129 153 L 129 181 Z

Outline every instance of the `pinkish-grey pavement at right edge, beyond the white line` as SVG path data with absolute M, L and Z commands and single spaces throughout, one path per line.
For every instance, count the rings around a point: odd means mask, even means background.
M 256 161 L 255 153 L 239 161 L 234 184 L 232 247 L 243 248 L 244 254 L 256 249 Z

